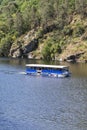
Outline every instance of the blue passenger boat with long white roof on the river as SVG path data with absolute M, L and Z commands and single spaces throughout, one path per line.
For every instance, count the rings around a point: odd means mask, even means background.
M 69 67 L 61 65 L 26 64 L 26 74 L 50 77 L 69 77 Z

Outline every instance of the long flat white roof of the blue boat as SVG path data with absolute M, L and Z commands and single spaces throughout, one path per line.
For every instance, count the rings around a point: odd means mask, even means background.
M 68 68 L 68 66 L 61 66 L 61 65 L 44 65 L 44 64 L 26 64 L 26 67 L 54 68 L 54 69 L 65 69 L 65 68 Z

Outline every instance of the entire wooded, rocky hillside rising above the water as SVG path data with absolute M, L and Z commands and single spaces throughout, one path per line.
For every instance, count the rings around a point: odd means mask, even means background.
M 1 0 L 0 56 L 87 61 L 87 0 Z

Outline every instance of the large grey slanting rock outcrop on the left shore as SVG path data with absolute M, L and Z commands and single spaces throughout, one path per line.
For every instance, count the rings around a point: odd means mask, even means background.
M 27 35 L 22 36 L 16 43 L 13 43 L 9 56 L 13 58 L 28 58 L 29 53 L 38 47 L 38 38 L 35 31 L 30 31 Z

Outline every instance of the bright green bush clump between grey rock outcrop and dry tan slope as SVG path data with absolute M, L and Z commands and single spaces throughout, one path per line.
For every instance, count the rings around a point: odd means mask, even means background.
M 44 45 L 44 48 L 42 50 L 42 55 L 44 59 L 55 59 L 56 54 L 60 54 L 62 52 L 62 47 L 65 44 L 65 42 L 58 38 L 56 33 L 48 39 Z

